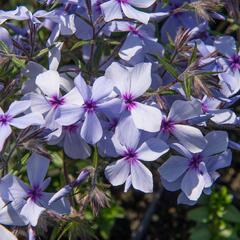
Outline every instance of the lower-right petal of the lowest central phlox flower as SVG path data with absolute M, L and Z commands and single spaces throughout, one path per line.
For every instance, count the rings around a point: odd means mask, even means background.
M 152 173 L 140 161 L 131 164 L 132 185 L 135 189 L 145 193 L 153 191 Z

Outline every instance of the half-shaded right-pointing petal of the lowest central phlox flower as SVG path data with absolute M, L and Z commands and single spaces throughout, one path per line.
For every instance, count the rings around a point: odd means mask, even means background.
M 144 161 L 154 161 L 158 159 L 160 156 L 168 152 L 168 145 L 160 139 L 151 138 L 144 142 L 137 149 L 138 159 Z

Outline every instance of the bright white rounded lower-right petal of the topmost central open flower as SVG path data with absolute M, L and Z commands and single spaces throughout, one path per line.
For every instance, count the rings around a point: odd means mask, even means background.
M 162 113 L 159 109 L 142 103 L 136 103 L 131 109 L 133 121 L 138 129 L 147 132 L 160 131 Z

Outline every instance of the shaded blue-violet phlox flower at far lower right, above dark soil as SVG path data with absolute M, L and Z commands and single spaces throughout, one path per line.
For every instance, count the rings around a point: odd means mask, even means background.
M 212 131 L 205 138 L 207 145 L 198 153 L 192 153 L 184 146 L 173 143 L 171 148 L 181 156 L 172 155 L 159 168 L 164 187 L 169 191 L 180 189 L 193 202 L 199 199 L 203 191 L 207 193 L 210 190 L 219 176 L 216 171 L 229 166 L 232 159 L 231 151 L 227 149 L 226 132 Z M 183 199 L 183 196 L 180 198 Z

